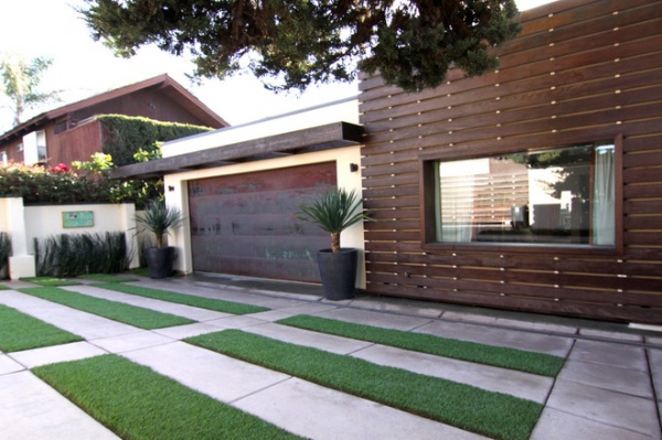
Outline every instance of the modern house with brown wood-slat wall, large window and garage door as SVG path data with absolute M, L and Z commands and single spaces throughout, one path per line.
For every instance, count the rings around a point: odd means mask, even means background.
M 190 215 L 184 272 L 311 279 L 298 265 L 325 243 L 300 246 L 317 233 L 282 219 L 335 181 L 376 219 L 343 237 L 364 249 L 367 293 L 660 325 L 661 11 L 549 3 L 522 13 L 496 72 L 418 94 L 362 78 L 361 126 L 217 130 L 117 175 L 167 173 Z

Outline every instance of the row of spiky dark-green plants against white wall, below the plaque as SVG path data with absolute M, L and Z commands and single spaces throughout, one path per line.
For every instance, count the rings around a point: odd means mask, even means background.
M 40 277 L 122 272 L 129 268 L 131 253 L 125 233 L 61 234 L 34 239 L 36 275 Z

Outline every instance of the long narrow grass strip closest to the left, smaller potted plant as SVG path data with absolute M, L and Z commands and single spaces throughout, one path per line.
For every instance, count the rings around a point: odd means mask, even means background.
M 269 310 L 265 307 L 242 304 L 239 302 L 196 297 L 193 294 L 171 292 L 168 290 L 150 289 L 147 287 L 134 285 L 95 285 L 95 287 L 232 314 L 258 313 L 266 312 L 267 310 Z

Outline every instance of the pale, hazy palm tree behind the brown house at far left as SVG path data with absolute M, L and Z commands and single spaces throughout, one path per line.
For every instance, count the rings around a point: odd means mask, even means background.
M 52 63 L 52 60 L 45 57 L 28 62 L 21 55 L 7 55 L 0 61 L 1 92 L 12 101 L 14 126 L 22 122 L 25 110 L 57 99 L 58 92 L 38 90 L 42 75 Z

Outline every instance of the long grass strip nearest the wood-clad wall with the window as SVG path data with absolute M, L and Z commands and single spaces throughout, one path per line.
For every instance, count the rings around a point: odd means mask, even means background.
M 320 333 L 329 333 L 414 352 L 516 369 L 548 377 L 556 377 L 565 363 L 565 358 L 545 353 L 458 341 L 431 334 L 382 329 L 306 314 L 287 318 L 277 322 Z

